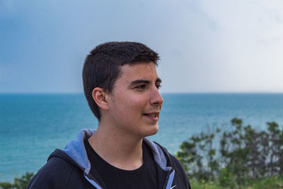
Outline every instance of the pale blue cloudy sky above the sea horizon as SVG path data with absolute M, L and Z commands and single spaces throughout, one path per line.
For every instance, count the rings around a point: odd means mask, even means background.
M 83 93 L 109 41 L 158 52 L 164 93 L 283 93 L 281 0 L 1 0 L 0 93 Z

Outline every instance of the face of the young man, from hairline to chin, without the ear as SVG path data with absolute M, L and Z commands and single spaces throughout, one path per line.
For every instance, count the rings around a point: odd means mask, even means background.
M 158 118 L 163 98 L 153 62 L 125 64 L 108 94 L 110 121 L 117 130 L 130 136 L 146 137 L 158 132 Z

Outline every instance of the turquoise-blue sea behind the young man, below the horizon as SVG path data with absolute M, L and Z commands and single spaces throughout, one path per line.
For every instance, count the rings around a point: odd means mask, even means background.
M 283 125 L 282 93 L 163 93 L 158 134 L 152 140 L 172 154 L 194 134 L 229 130 L 232 118 L 266 129 Z M 98 122 L 83 94 L 0 94 L 0 182 L 34 172 L 54 149 L 64 149 Z

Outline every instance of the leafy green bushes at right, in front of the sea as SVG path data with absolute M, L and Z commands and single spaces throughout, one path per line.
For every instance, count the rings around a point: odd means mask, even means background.
M 180 145 L 176 156 L 192 188 L 283 188 L 283 130 L 231 120 L 229 131 L 202 132 Z

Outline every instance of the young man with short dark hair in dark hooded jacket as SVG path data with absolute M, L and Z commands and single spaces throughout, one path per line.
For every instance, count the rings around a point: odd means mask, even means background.
M 180 162 L 146 138 L 158 132 L 163 103 L 157 61 L 139 42 L 92 50 L 83 88 L 98 129 L 56 149 L 28 188 L 190 188 Z

